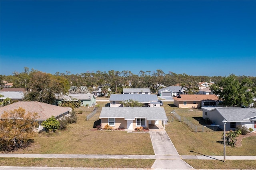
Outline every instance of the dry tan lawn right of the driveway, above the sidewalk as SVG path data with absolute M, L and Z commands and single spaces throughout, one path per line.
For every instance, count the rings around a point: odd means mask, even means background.
M 164 109 L 168 119 L 172 110 L 189 120 L 202 118 L 202 112 L 197 112 L 200 109 L 188 111 L 190 109 L 175 107 L 171 102 L 165 102 Z M 222 131 L 192 132 L 185 123 L 179 121 L 169 121 L 165 128 L 180 155 L 223 155 L 223 144 L 220 144 Z M 256 155 L 255 143 L 256 136 L 244 138 L 241 147 L 226 146 L 226 155 Z

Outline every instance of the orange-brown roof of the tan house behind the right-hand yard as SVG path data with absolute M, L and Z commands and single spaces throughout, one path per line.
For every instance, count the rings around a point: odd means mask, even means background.
M 173 97 L 176 101 L 203 101 L 203 100 L 218 100 L 216 95 L 178 95 Z

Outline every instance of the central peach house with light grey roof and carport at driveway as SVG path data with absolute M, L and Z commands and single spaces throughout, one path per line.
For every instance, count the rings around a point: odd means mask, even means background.
M 167 122 L 164 108 L 156 107 L 102 107 L 101 127 L 134 130 L 136 127 L 148 128 L 149 125 L 162 125 Z

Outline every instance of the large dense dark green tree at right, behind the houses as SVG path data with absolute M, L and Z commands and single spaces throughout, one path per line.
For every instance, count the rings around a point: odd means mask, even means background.
M 210 89 L 218 99 L 222 100 L 222 105 L 228 107 L 248 107 L 253 103 L 252 98 L 256 95 L 255 84 L 248 77 L 238 80 L 236 75 L 223 77 L 220 82 L 211 85 Z

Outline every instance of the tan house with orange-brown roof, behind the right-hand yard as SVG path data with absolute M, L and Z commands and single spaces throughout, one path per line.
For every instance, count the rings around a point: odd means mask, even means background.
M 178 95 L 173 104 L 180 108 L 216 107 L 219 104 L 215 95 Z

